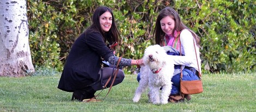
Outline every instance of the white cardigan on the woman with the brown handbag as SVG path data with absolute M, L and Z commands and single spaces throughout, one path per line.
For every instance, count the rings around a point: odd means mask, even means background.
M 174 60 L 175 65 L 185 65 L 188 67 L 194 67 L 198 71 L 197 59 L 196 59 L 196 53 L 194 52 L 193 41 L 196 45 L 199 70 L 201 72 L 201 59 L 200 59 L 199 47 L 197 46 L 196 41 L 193 40 L 193 35 L 189 30 L 184 29 L 180 33 L 181 53 L 185 55 L 184 56 L 169 55 L 169 56 Z

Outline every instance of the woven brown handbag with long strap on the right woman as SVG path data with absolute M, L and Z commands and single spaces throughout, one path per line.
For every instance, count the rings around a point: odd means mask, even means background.
M 194 42 L 194 40 L 193 40 Z M 181 44 L 180 44 L 181 46 Z M 196 52 L 196 46 L 194 44 L 194 51 Z M 181 47 L 180 47 L 180 54 L 181 54 Z M 196 58 L 197 58 L 197 52 L 196 52 Z M 197 66 L 198 66 L 198 77 L 199 80 L 182 80 L 182 67 L 180 67 L 180 92 L 181 94 L 199 94 L 203 92 L 203 83 L 201 78 L 201 73 L 199 69 L 198 59 L 197 59 Z

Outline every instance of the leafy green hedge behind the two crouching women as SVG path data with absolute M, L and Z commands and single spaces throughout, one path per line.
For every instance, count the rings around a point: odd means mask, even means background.
M 155 44 L 158 12 L 178 11 L 184 23 L 201 37 L 203 72 L 254 72 L 256 3 L 234 1 L 101 1 L 28 0 L 29 42 L 33 64 L 61 71 L 72 43 L 91 22 L 99 5 L 113 9 L 121 39 L 118 56 L 139 59 Z M 136 70 L 126 67 L 126 73 Z

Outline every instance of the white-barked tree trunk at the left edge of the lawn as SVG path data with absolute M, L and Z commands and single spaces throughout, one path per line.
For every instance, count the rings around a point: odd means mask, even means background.
M 0 0 L 0 76 L 33 73 L 26 0 Z

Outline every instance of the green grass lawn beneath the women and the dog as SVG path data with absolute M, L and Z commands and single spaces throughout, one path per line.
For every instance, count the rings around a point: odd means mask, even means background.
M 102 102 L 72 102 L 57 89 L 60 75 L 0 77 L 0 111 L 256 111 L 256 74 L 203 74 L 204 92 L 189 102 L 153 105 L 147 94 L 132 102 L 136 75 L 126 75 Z M 102 99 L 108 89 L 97 99 Z M 99 92 L 99 91 L 97 91 Z

